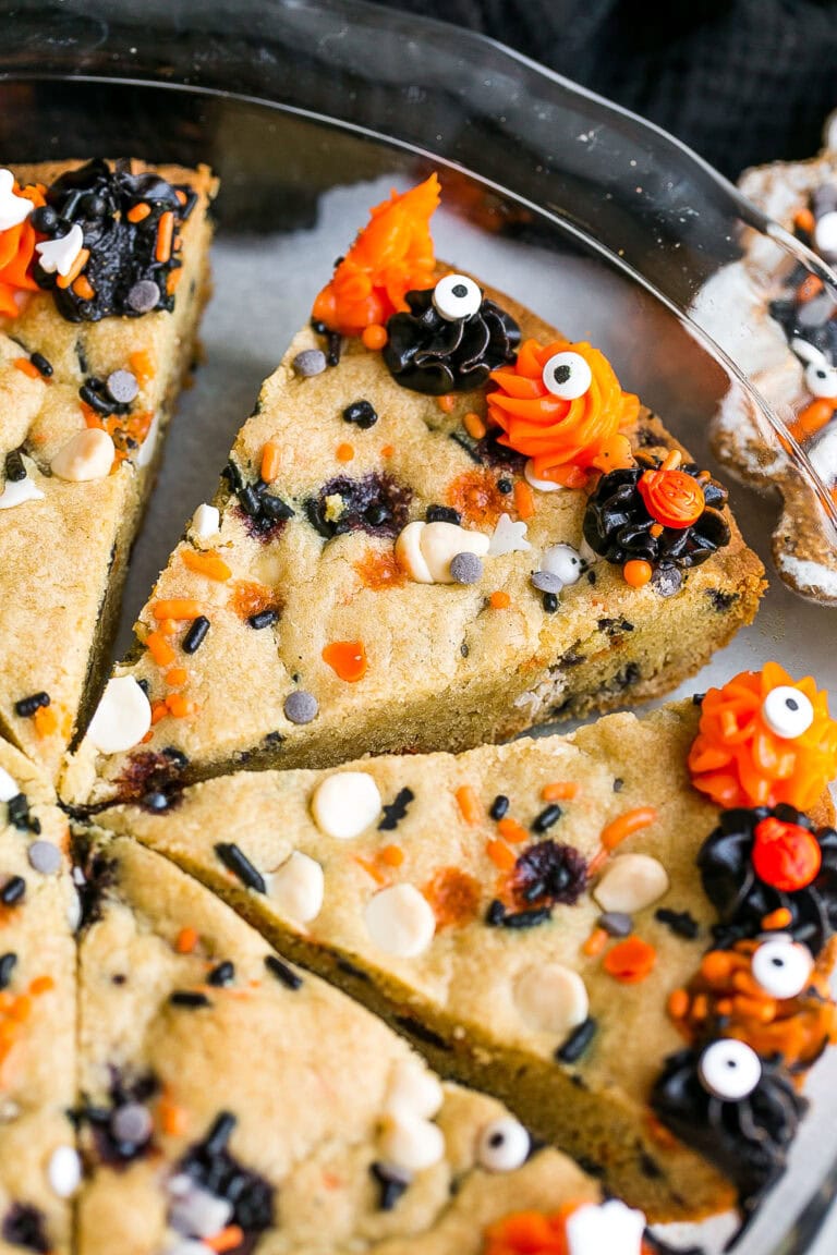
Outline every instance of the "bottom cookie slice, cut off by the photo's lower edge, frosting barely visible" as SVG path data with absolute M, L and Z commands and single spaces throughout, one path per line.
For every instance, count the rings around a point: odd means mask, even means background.
M 570 1255 L 640 1255 L 641 1216 L 167 860 L 117 838 L 87 876 L 80 1255 L 501 1255 L 567 1224 Z

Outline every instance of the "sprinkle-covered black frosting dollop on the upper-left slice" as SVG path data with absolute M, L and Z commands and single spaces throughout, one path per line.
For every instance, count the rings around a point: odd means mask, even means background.
M 177 193 L 184 196 L 181 203 Z M 173 187 L 153 171 L 132 174 L 127 162 L 117 162 L 115 168 L 99 158 L 61 174 L 46 191 L 46 208 L 35 210 L 33 223 L 50 238 L 67 235 L 78 223 L 84 236 L 84 247 L 90 256 L 83 269 L 94 295 L 79 296 L 73 287 L 59 287 L 56 275 L 46 274 L 39 265 L 34 279 L 39 287 L 53 291 L 59 314 L 69 323 L 98 323 L 110 315 L 139 318 L 152 309 L 172 310 L 174 296 L 167 291 L 167 279 L 172 270 L 182 265 L 174 247 L 167 261 L 157 261 L 157 227 L 163 213 L 174 213 L 177 227 L 188 217 L 196 201 L 195 192 L 183 186 Z M 147 205 L 148 215 L 139 222 L 131 222 L 128 212 L 137 205 Z M 149 302 L 148 286 L 143 300 L 137 299 L 137 285 L 157 285 L 158 296 Z M 134 291 L 133 301 L 129 294 Z M 153 294 L 153 289 L 151 290 Z

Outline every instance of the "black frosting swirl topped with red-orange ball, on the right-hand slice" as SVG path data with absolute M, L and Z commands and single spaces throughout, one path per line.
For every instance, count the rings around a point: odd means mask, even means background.
M 816 836 L 822 850 L 822 867 L 807 889 L 786 892 L 765 885 L 755 875 L 752 858 L 755 827 L 769 817 L 797 823 Z M 837 929 L 837 832 L 816 830 L 793 806 L 723 811 L 718 827 L 698 855 L 698 867 L 704 891 L 720 916 L 720 924 L 713 929 L 720 946 L 729 948 L 743 937 L 757 936 L 763 931 L 763 917 L 779 907 L 791 912 L 791 924 L 783 931 L 807 945 L 814 956 Z

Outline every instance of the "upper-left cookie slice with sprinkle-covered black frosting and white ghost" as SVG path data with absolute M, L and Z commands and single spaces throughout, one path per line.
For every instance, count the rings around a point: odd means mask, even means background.
M 53 778 L 193 360 L 213 195 L 205 167 L 0 169 L 0 732 Z

